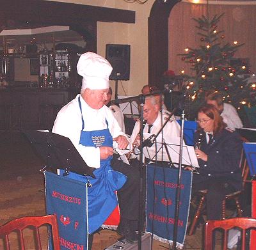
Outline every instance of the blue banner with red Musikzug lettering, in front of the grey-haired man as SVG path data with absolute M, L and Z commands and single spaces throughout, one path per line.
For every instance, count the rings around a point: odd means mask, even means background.
M 162 242 L 173 242 L 175 205 L 179 169 L 147 165 L 146 231 Z M 177 246 L 183 247 L 186 236 L 191 198 L 191 171 L 182 170 L 180 178 L 180 206 Z

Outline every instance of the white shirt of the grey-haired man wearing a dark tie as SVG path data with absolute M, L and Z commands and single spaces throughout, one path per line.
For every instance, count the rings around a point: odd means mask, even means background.
M 161 116 L 163 117 L 163 120 L 162 120 Z M 163 126 L 166 119 L 168 119 L 168 114 L 166 114 L 166 113 L 163 114 L 163 113 L 159 112 L 156 120 L 153 123 L 153 126 L 150 129 L 150 134 L 156 135 L 159 132 L 159 130 L 161 129 L 161 127 Z M 145 124 L 143 132 L 144 133 L 148 132 L 148 124 L 147 123 Z M 162 137 L 162 133 L 163 133 L 163 138 L 165 141 L 170 141 L 170 138 L 172 138 L 172 137 L 180 137 L 180 125 L 179 125 L 179 123 L 177 123 L 174 116 L 172 116 L 172 118 L 170 118 L 168 123 L 165 125 L 163 131 L 158 136 L 159 138 Z M 132 148 L 132 143 L 134 143 L 134 140 L 138 134 L 140 134 L 140 121 L 137 121 L 135 123 L 134 129 L 132 130 L 132 135 L 130 137 L 130 147 L 131 148 Z M 157 159 L 161 159 L 161 152 L 159 152 L 159 154 L 160 155 L 159 155 L 159 157 L 157 157 Z M 133 157 L 134 157 L 134 155 L 133 155 Z

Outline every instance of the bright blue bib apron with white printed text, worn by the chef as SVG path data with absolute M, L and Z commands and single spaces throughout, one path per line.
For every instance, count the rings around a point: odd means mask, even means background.
M 82 117 L 82 130 L 79 144 L 83 146 L 110 146 L 113 147 L 113 137 L 109 129 L 83 131 L 84 119 L 82 114 L 81 100 L 79 97 L 79 107 Z M 106 120 L 108 126 L 108 121 Z M 93 174 L 95 179 L 88 176 L 92 187 L 88 188 L 88 224 L 89 233 L 93 233 L 108 219 L 111 212 L 117 205 L 117 198 L 114 191 L 121 189 L 125 184 L 127 176 L 118 171 L 114 171 L 111 164 L 112 157 L 100 160 L 100 168 L 95 169 Z

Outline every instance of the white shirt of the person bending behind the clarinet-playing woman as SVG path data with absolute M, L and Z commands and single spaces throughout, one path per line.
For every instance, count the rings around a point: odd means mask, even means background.
M 223 121 L 227 124 L 228 128 L 235 130 L 241 129 L 241 127 L 243 127 L 243 123 L 237 114 L 236 108 L 231 104 L 223 104 L 223 111 L 221 116 Z

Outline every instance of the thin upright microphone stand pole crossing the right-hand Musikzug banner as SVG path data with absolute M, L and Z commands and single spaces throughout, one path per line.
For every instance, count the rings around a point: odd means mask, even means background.
M 181 166 L 182 166 L 182 150 L 183 150 L 183 136 L 184 136 L 184 109 L 181 114 L 181 128 L 180 128 L 180 155 L 179 155 L 179 176 L 176 191 L 176 203 L 175 203 L 175 221 L 173 226 L 173 244 L 172 250 L 177 250 L 177 234 L 178 234 L 178 221 L 179 221 L 179 208 L 180 208 L 180 177 L 181 177 Z

